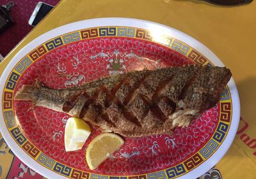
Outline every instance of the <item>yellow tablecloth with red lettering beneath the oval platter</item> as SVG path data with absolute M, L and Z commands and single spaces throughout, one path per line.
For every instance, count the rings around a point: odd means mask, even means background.
M 220 57 L 231 69 L 239 90 L 243 120 L 228 153 L 215 166 L 216 169 L 202 178 L 217 177 L 220 171 L 222 178 L 254 179 L 256 1 L 243 6 L 227 7 L 188 0 L 63 0 L 5 57 L 0 64 L 0 75 L 12 57 L 40 34 L 70 22 L 99 17 L 129 17 L 159 22 L 198 39 Z M 0 136 L 1 150 L 6 148 Z M 2 161 L 0 165 L 3 165 Z M 0 169 L 0 178 L 5 178 L 8 171 L 3 166 Z

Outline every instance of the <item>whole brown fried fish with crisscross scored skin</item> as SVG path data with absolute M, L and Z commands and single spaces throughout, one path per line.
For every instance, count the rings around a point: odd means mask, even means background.
M 122 136 L 172 134 L 218 103 L 230 77 L 227 68 L 200 65 L 133 71 L 67 89 L 24 85 L 15 99 L 83 118 Z

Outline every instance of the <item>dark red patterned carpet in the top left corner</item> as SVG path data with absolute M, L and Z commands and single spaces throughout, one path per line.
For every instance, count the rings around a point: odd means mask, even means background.
M 0 6 L 7 4 L 10 0 L 0 0 Z M 42 0 L 41 2 L 55 6 L 60 0 Z M 14 6 L 10 15 L 15 20 L 15 25 L 0 34 L 0 54 L 7 55 L 33 27 L 28 20 L 39 1 L 35 0 L 14 0 Z

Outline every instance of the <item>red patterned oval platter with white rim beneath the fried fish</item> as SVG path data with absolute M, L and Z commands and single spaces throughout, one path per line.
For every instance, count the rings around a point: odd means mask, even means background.
M 0 130 L 12 151 L 47 178 L 153 179 L 196 178 L 225 155 L 239 124 L 240 104 L 234 80 L 221 99 L 189 127 L 172 135 L 124 138 L 125 144 L 90 170 L 85 150 L 65 152 L 69 117 L 33 108 L 13 96 L 24 84 L 40 80 L 62 89 L 102 76 L 184 64 L 224 66 L 196 39 L 165 25 L 131 18 L 95 18 L 46 32 L 13 57 L 0 79 Z

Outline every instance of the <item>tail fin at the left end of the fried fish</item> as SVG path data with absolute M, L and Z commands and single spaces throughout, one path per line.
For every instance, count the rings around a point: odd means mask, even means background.
M 23 85 L 20 90 L 16 92 L 14 99 L 20 101 L 35 101 L 35 94 L 38 89 L 38 87 L 34 87 L 32 85 Z

